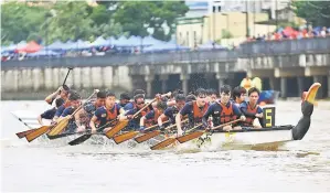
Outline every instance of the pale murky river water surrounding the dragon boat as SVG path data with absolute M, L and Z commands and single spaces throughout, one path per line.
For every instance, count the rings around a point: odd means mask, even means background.
M 330 103 L 319 101 L 301 141 L 280 151 L 151 151 L 146 146 L 28 143 L 9 111 L 43 101 L 1 101 L 1 192 L 330 191 Z M 277 125 L 295 125 L 300 101 L 278 101 Z

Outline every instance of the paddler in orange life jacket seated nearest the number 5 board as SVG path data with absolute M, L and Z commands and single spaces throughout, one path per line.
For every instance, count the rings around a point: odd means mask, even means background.
M 262 128 L 263 109 L 257 105 L 259 94 L 260 92 L 257 88 L 252 87 L 248 90 L 249 101 L 243 101 L 241 104 L 239 109 L 246 117 L 246 120 L 242 124 L 242 126 L 254 127 L 256 129 Z

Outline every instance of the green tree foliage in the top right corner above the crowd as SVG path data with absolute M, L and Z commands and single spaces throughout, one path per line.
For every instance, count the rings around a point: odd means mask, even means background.
M 330 26 L 330 1 L 292 1 L 297 17 L 315 26 Z

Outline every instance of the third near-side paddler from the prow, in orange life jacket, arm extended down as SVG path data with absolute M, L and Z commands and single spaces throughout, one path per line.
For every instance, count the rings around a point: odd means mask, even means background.
M 190 101 L 184 105 L 180 112 L 175 116 L 175 124 L 178 128 L 178 136 L 182 136 L 181 121 L 183 116 L 188 116 L 190 127 L 202 122 L 202 117 L 209 108 L 209 103 L 206 101 L 206 90 L 199 88 L 195 92 L 196 100 Z

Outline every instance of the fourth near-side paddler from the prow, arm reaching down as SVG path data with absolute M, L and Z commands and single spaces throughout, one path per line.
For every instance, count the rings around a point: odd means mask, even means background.
M 159 129 L 163 129 L 163 120 L 168 118 L 171 124 L 175 124 L 175 116 L 185 105 L 185 97 L 183 94 L 178 94 L 175 96 L 175 105 L 168 107 L 162 115 L 158 118 Z

